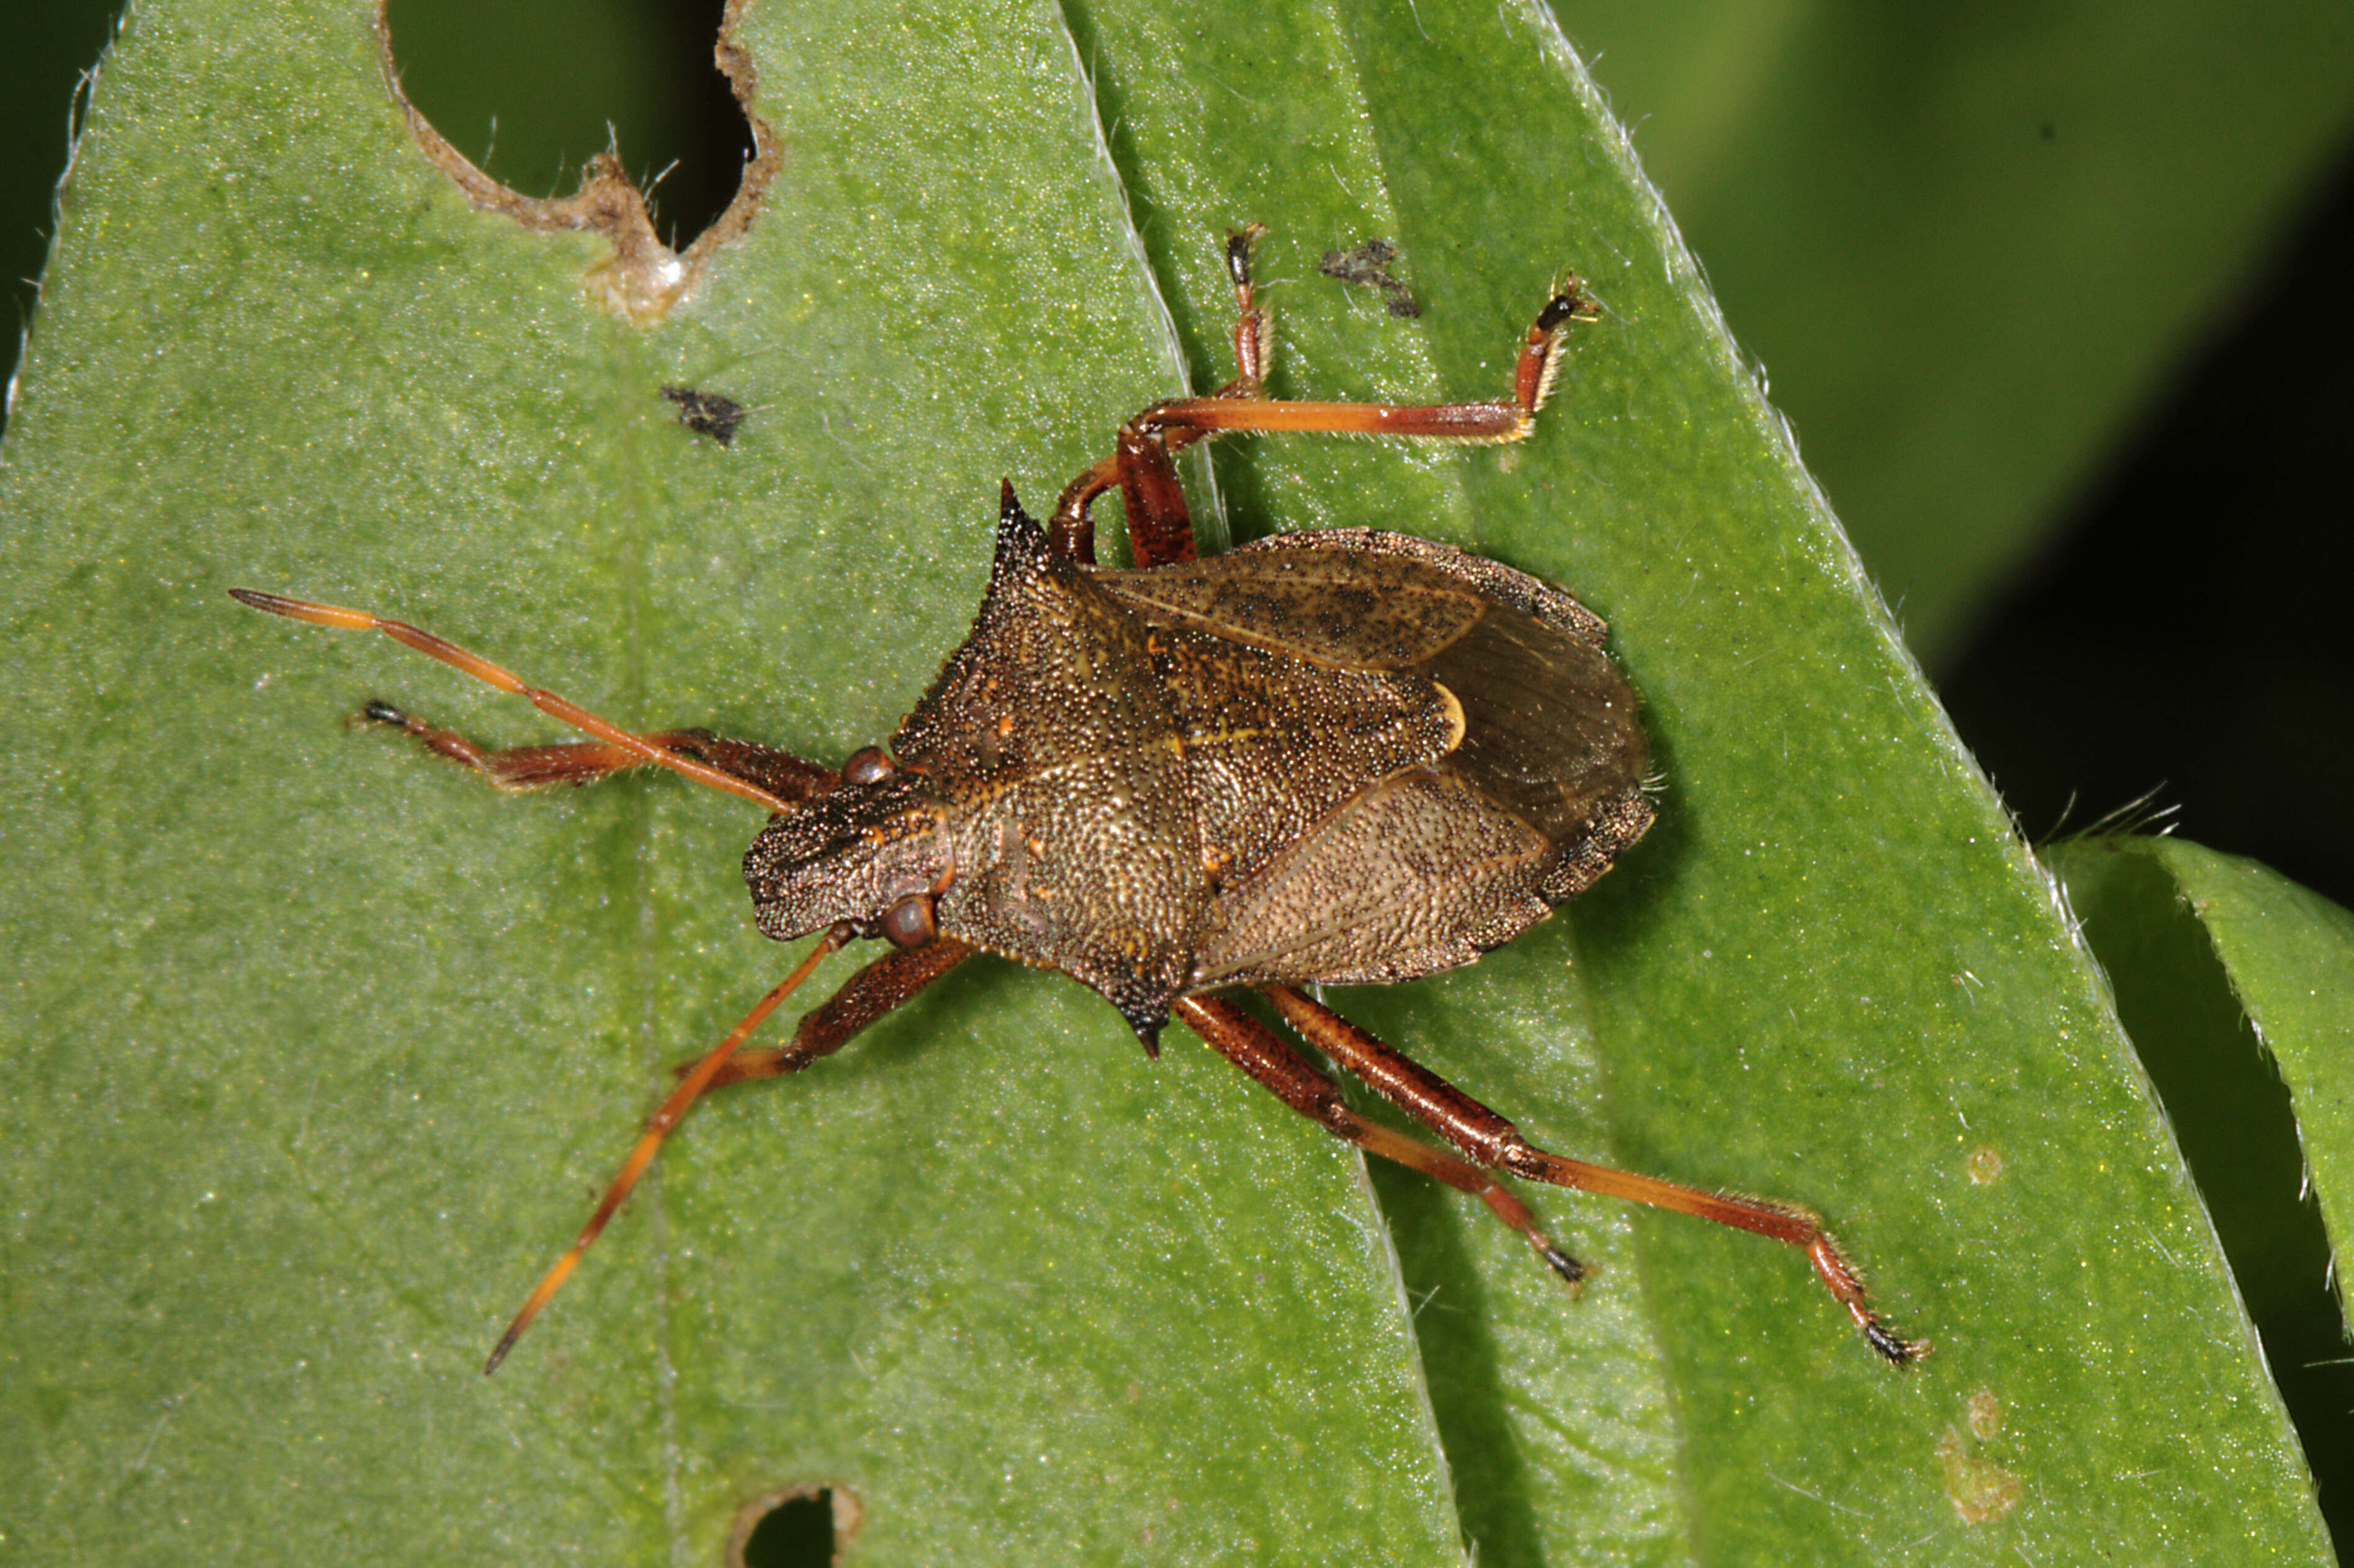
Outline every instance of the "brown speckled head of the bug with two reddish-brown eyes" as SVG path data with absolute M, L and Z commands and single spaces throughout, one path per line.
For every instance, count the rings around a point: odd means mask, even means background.
M 753 918 L 770 937 L 850 921 L 897 946 L 932 939 L 932 899 L 949 885 L 946 805 L 925 775 L 876 749 L 843 768 L 838 789 L 784 812 L 744 852 Z

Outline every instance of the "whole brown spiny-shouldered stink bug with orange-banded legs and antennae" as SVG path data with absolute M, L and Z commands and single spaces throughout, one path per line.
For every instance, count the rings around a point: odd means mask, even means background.
M 753 918 L 824 932 L 654 1114 L 579 1241 L 516 1314 L 485 1370 L 596 1241 L 661 1137 L 709 1088 L 800 1071 L 972 954 L 1062 970 L 1158 1050 L 1182 1019 L 1335 1137 L 1478 1196 L 1565 1281 L 1584 1269 L 1495 1172 L 1700 1215 L 1803 1248 L 1888 1361 L 1893 1333 L 1803 1208 L 1707 1194 L 1530 1147 L 1445 1078 L 1302 986 L 1412 979 L 1514 939 L 1610 869 L 1650 826 L 1636 695 L 1603 624 L 1535 577 L 1375 530 L 1295 532 L 1208 560 L 1170 454 L 1222 431 L 1330 431 L 1507 443 L 1528 436 L 1563 332 L 1591 320 L 1575 278 L 1537 313 L 1492 403 L 1278 403 L 1250 245 L 1226 242 L 1238 374 L 1156 403 L 1040 527 L 1000 497 L 989 593 L 890 749 L 822 768 L 704 730 L 633 735 L 403 622 L 238 589 L 320 626 L 384 631 L 588 735 L 485 751 L 386 704 L 398 725 L 499 789 L 588 784 L 654 763 L 770 812 L 744 855 Z M 1130 570 L 1095 563 L 1090 504 L 1121 492 Z M 803 1015 L 793 1041 L 739 1045 L 852 939 L 890 951 Z M 1321 1067 L 1231 1001 L 1276 1012 L 1452 1151 L 1349 1111 Z

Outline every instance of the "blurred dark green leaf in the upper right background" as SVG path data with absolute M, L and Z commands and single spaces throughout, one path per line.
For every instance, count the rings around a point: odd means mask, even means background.
M 2312 0 L 1561 12 L 1930 669 L 2354 125 L 2354 12 Z

